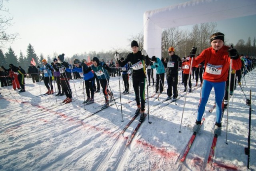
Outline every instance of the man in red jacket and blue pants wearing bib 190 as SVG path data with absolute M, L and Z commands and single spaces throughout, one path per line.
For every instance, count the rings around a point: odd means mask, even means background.
M 241 60 L 238 58 L 236 49 L 224 45 L 224 34 L 217 32 L 210 37 L 211 47 L 203 50 L 201 54 L 193 59 L 193 66 L 204 63 L 204 81 L 201 90 L 201 98 L 198 106 L 196 125 L 193 127 L 194 132 L 198 132 L 205 105 L 208 101 L 210 91 L 214 87 L 216 101 L 216 123 L 214 134 L 221 134 L 221 119 L 223 111 L 223 98 L 225 94 L 225 83 L 228 78 L 230 59 L 232 59 L 232 68 L 238 70 L 241 68 Z M 194 58 L 196 48 L 190 51 L 190 58 Z M 191 60 L 191 59 L 190 59 Z

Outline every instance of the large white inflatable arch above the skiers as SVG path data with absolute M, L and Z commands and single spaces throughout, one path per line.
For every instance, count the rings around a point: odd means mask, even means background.
M 144 49 L 161 58 L 162 29 L 256 14 L 256 0 L 192 0 L 144 12 Z

